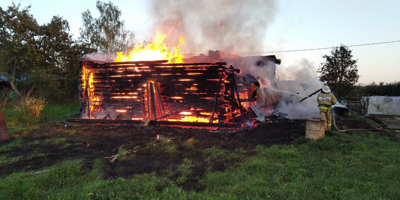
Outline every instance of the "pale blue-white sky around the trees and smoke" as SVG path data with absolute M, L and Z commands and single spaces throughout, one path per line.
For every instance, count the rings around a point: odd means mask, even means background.
M 20 0 L 21 6 L 32 5 L 31 14 L 39 24 L 50 22 L 52 16 L 59 15 L 68 20 L 74 38 L 79 36 L 82 26 L 81 13 L 89 9 L 97 17 L 95 0 Z M 260 42 L 263 52 L 326 48 L 342 44 L 358 45 L 400 40 L 400 1 L 398 0 L 277 0 L 276 16 Z M 136 34 L 135 42 L 150 39 L 151 16 L 146 0 L 112 0 L 122 11 L 126 28 Z M 12 0 L 2 0 L 5 10 Z M 210 5 L 212 6 L 212 5 Z M 185 38 L 190 40 L 190 38 Z M 358 59 L 359 82 L 400 81 L 400 42 L 350 47 L 352 55 Z M 315 70 L 322 55 L 331 49 L 300 52 L 271 53 L 282 59 L 277 67 L 290 70 L 296 68 L 302 59 L 312 63 Z M 182 53 L 193 53 L 184 52 Z M 207 52 L 195 52 L 204 53 Z M 261 54 L 270 55 L 270 54 Z

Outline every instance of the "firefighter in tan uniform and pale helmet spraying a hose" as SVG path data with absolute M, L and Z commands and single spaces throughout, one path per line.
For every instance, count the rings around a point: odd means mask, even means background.
M 330 131 L 332 127 L 332 105 L 336 104 L 337 100 L 330 92 L 328 86 L 322 86 L 322 91 L 318 94 L 317 102 L 321 120 L 325 121 L 325 131 Z

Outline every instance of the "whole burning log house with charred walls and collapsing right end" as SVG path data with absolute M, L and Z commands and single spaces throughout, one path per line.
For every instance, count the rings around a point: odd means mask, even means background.
M 275 78 L 280 60 L 257 57 L 255 65 L 271 70 Z M 240 74 L 243 66 L 234 66 L 243 65 L 246 58 L 218 58 L 226 62 L 213 63 L 79 60 L 82 119 L 218 126 L 244 122 L 249 104 L 257 102 L 260 83 L 250 74 Z

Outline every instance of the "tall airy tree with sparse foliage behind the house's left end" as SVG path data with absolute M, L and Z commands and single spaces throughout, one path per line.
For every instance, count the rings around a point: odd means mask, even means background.
M 132 47 L 135 35 L 125 29 L 121 10 L 110 1 L 96 1 L 96 8 L 100 13 L 98 18 L 93 18 L 89 10 L 82 12 L 83 28 L 79 28 L 82 42 L 104 53 L 125 52 Z

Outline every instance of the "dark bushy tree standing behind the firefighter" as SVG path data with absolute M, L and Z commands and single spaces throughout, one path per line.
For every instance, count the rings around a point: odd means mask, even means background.
M 344 44 L 332 49 L 332 55 L 322 56 L 326 62 L 322 62 L 317 71 L 321 73 L 320 80 L 328 84 L 338 97 L 347 96 L 360 78 L 357 60 L 352 59 L 351 52 Z

